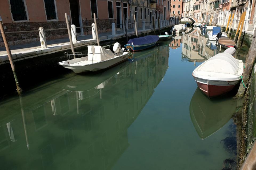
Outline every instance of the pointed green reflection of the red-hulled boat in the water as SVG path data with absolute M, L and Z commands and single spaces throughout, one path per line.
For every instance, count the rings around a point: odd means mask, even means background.
M 209 100 L 198 88 L 189 105 L 191 121 L 201 139 L 221 129 L 231 119 L 236 109 L 236 100 L 231 97 Z

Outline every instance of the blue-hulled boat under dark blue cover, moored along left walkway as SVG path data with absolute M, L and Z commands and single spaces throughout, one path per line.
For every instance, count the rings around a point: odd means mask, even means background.
M 155 46 L 159 40 L 157 35 L 147 35 L 144 37 L 130 39 L 125 45 L 125 48 L 130 51 L 139 51 Z

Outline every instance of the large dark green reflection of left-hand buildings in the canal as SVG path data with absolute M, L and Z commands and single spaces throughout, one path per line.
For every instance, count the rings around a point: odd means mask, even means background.
M 71 75 L 23 96 L 29 150 L 17 99 L 0 104 L 1 168 L 111 169 L 168 57 L 168 45 L 159 46 L 104 73 Z

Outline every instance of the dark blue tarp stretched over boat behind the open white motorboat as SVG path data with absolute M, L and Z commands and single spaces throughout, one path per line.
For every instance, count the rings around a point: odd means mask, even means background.
M 143 45 L 143 44 L 155 43 L 158 40 L 159 40 L 159 37 L 157 35 L 147 35 L 145 37 L 139 37 L 139 38 L 130 39 L 127 44 Z

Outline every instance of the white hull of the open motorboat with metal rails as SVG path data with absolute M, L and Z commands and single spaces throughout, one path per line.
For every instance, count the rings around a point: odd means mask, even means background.
M 71 69 L 74 71 L 74 73 L 82 73 L 86 71 L 98 71 L 102 69 L 106 69 L 109 67 L 112 67 L 114 65 L 117 65 L 118 63 L 121 63 L 128 58 L 128 52 L 123 52 L 123 55 L 115 56 L 114 58 L 111 58 L 109 60 L 99 61 L 95 63 L 90 63 L 86 65 L 79 65 L 79 64 L 68 64 L 67 61 L 59 62 L 59 65 L 62 65 L 63 67 L 67 69 Z M 75 59 L 73 59 L 75 60 Z

